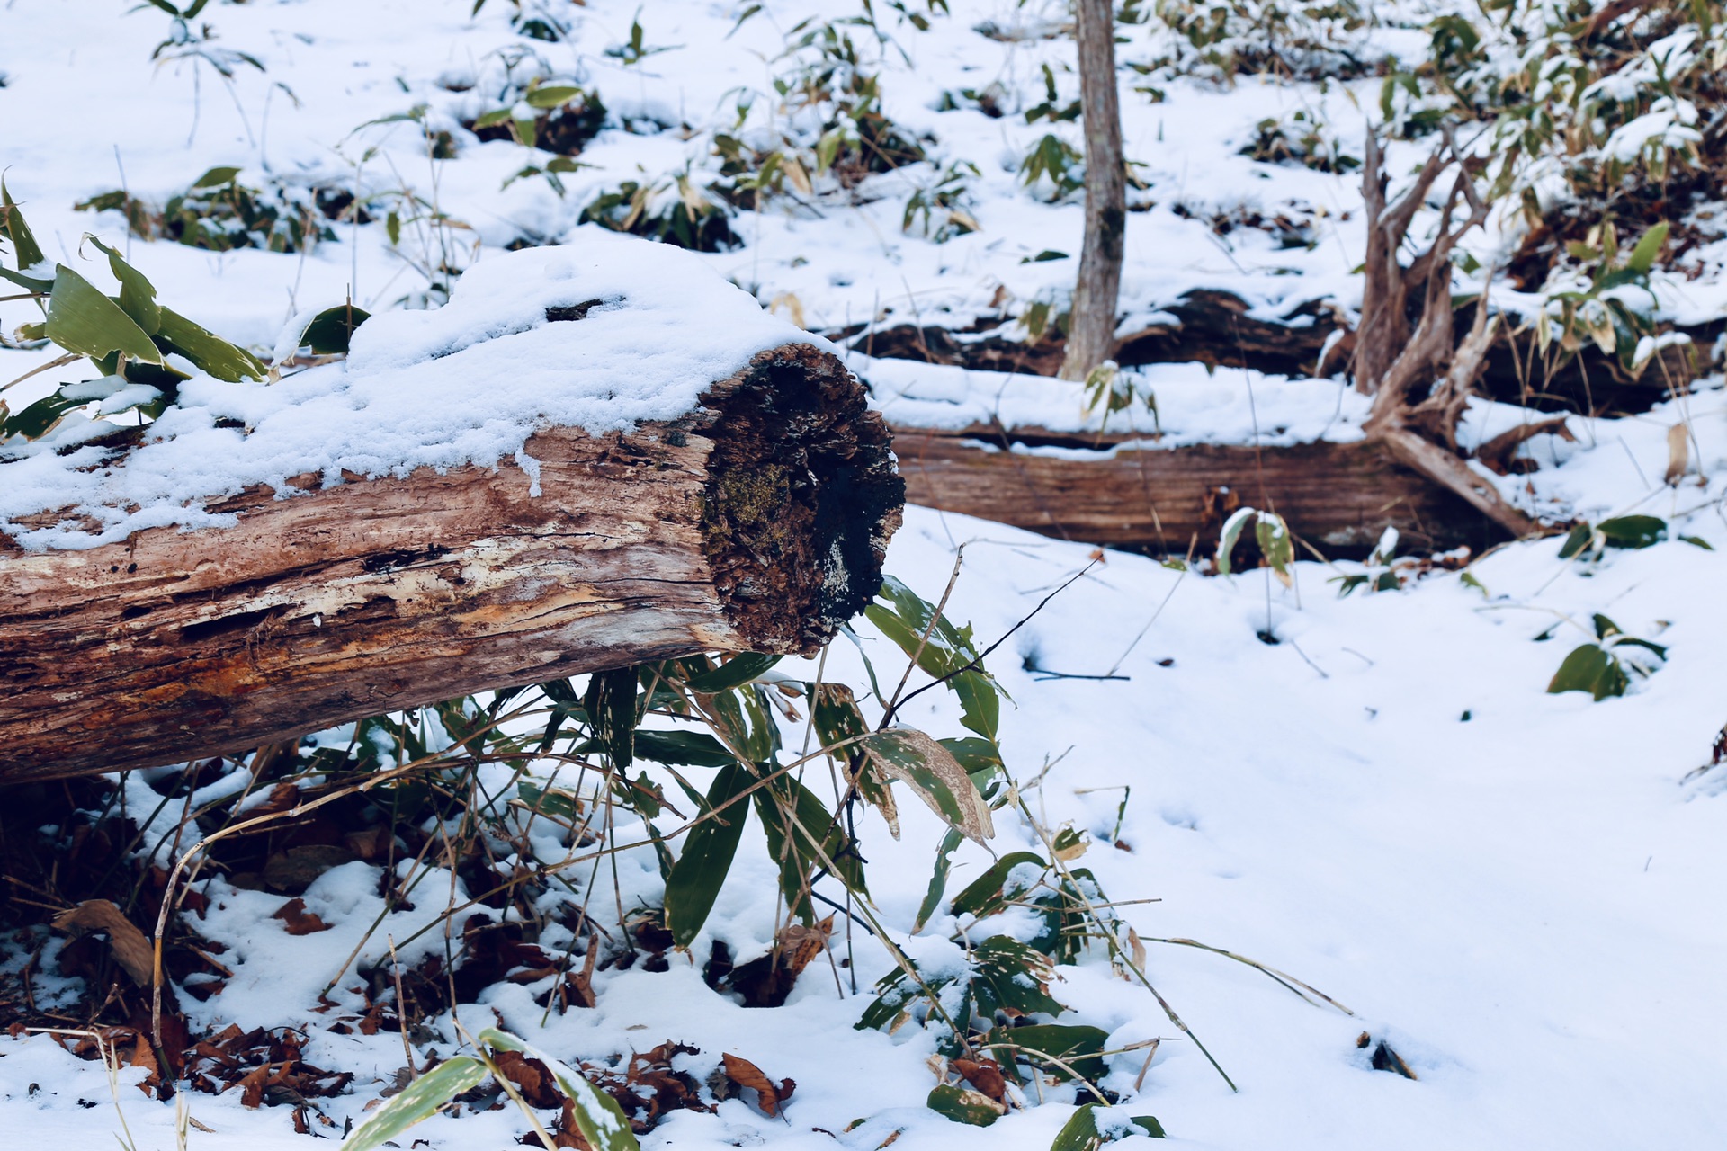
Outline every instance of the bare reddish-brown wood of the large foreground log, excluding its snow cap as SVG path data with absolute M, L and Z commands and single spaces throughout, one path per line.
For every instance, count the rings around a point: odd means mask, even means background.
M 869 602 L 903 481 L 832 355 L 763 352 L 629 435 L 535 435 L 90 550 L 0 537 L 0 782 L 240 752 L 699 651 L 812 652 Z M 52 518 L 52 516 L 50 516 Z

